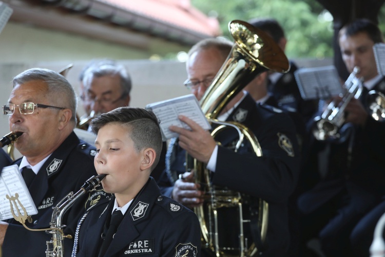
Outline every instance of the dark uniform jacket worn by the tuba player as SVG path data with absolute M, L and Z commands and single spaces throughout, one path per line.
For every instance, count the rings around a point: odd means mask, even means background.
M 296 186 L 300 168 L 294 123 L 281 110 L 256 104 L 249 95 L 230 114 L 227 121 L 231 120 L 244 124 L 254 133 L 262 156 L 257 157 L 246 148 L 238 153 L 228 149 L 238 134 L 225 131 L 216 138 L 221 146 L 212 182 L 267 201 L 269 216 L 265 256 L 283 256 L 289 241 L 287 198 Z M 183 173 L 185 151 L 178 148 L 176 154 L 170 169 Z M 162 192 L 171 195 L 167 171 L 161 179 L 159 185 Z

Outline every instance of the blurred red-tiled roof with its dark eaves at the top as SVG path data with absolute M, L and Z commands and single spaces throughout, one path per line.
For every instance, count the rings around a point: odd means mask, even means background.
M 191 6 L 190 0 L 8 0 L 8 4 L 14 9 L 11 20 L 95 38 L 101 38 L 97 24 L 100 29 L 104 26 L 105 34 L 121 28 L 182 45 L 221 34 L 218 20 Z M 127 41 L 121 32 L 116 37 Z

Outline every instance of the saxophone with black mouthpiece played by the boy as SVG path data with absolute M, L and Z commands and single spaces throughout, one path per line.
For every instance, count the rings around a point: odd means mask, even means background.
M 90 177 L 80 190 L 76 193 L 70 192 L 65 196 L 59 204 L 53 208 L 53 213 L 50 222 L 50 229 L 46 230 L 47 233 L 52 234 L 50 241 L 47 241 L 46 257 L 63 257 L 64 256 L 64 238 L 72 238 L 72 235 L 65 235 L 63 228 L 65 225 L 62 224 L 63 215 L 68 209 L 78 200 L 82 195 L 93 191 L 99 186 L 106 175 L 97 175 Z

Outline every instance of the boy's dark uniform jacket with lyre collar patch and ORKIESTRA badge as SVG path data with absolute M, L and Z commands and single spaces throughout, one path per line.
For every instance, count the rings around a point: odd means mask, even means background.
M 80 227 L 76 256 L 98 256 L 101 235 L 111 216 L 114 199 L 103 199 L 90 208 Z M 197 216 L 162 196 L 150 177 L 126 211 L 104 256 L 200 256 L 199 252 Z

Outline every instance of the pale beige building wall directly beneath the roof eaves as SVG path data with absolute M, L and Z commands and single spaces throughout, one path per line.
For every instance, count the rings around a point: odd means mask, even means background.
M 121 29 L 122 34 L 130 34 Z M 95 40 L 82 35 L 8 22 L 0 34 L 0 63 L 75 61 L 98 58 L 149 59 L 187 51 L 189 47 L 148 35 L 131 33 L 140 47 Z

